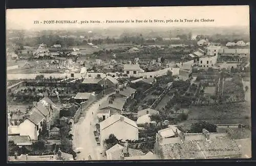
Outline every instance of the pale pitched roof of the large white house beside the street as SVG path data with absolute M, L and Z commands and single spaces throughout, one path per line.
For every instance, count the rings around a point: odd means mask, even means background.
M 131 126 L 138 128 L 136 123 L 133 120 L 130 120 L 130 118 L 127 118 L 123 115 L 120 115 L 119 113 L 115 113 L 114 115 L 110 116 L 109 118 L 106 118 L 104 121 L 100 122 L 100 130 L 104 130 L 105 128 L 113 125 L 114 123 L 120 121 L 120 118 L 123 118 L 123 122 L 130 124 Z

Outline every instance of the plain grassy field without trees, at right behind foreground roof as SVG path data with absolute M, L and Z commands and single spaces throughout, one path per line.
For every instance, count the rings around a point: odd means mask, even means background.
M 206 121 L 211 124 L 245 124 L 251 123 L 250 105 L 247 102 L 229 103 L 214 106 L 192 106 L 189 108 L 188 119 L 180 124 L 188 130 L 191 123 Z

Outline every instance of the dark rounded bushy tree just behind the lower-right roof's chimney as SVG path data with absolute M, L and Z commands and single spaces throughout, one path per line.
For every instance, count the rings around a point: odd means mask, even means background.
M 203 129 L 206 129 L 209 132 L 217 132 L 217 126 L 212 125 L 205 121 L 193 123 L 190 127 L 190 132 L 191 133 L 200 133 L 200 132 L 202 132 Z

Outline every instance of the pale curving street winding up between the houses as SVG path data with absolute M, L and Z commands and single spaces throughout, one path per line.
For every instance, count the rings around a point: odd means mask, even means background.
M 108 94 L 108 96 L 111 94 L 113 93 Z M 93 103 L 89 108 L 83 110 L 86 111 L 86 116 L 81 116 L 78 123 L 73 126 L 73 148 L 79 149 L 78 151 L 80 151 L 80 153 L 77 154 L 76 160 L 89 160 L 89 156 L 91 156 L 91 160 L 103 159 L 99 151 L 100 148 L 94 137 L 94 130 L 97 122 L 99 104 L 105 101 L 108 96 L 104 96 L 102 99 Z

